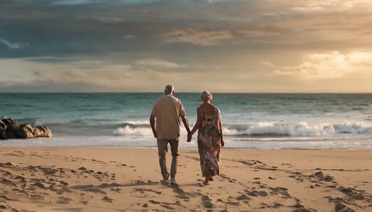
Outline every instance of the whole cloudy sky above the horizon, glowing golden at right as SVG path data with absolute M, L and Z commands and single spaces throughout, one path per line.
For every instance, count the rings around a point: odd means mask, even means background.
M 372 92 L 371 0 L 1 0 L 0 92 Z

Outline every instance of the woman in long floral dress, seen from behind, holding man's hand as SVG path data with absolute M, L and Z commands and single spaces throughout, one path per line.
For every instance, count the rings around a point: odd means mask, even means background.
M 198 150 L 200 155 L 200 166 L 204 185 L 213 181 L 213 176 L 219 174 L 219 163 L 221 157 L 220 147 L 224 146 L 222 136 L 221 113 L 219 109 L 210 103 L 212 94 L 204 91 L 200 98 L 203 104 L 197 108 L 198 120 L 191 132 L 188 134 L 188 142 L 198 130 Z

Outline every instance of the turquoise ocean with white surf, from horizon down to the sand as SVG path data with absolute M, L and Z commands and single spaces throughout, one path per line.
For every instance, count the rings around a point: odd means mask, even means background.
M 161 93 L 0 94 L 0 116 L 48 126 L 53 138 L 1 146 L 155 148 L 149 117 Z M 176 93 L 196 121 L 199 94 Z M 214 94 L 226 148 L 372 148 L 372 94 Z M 197 148 L 196 135 L 180 148 Z

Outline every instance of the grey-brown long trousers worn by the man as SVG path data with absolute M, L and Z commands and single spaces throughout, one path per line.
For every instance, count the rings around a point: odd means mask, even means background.
M 167 162 L 166 162 L 166 155 L 168 152 L 168 143 L 170 145 L 170 151 L 172 153 L 172 164 L 170 166 L 170 177 L 171 179 L 175 179 L 178 167 L 177 158 L 178 154 L 178 140 L 176 139 L 158 139 L 158 154 L 159 154 L 159 164 L 161 175 L 163 176 L 163 180 L 169 179 L 169 173 L 167 171 Z

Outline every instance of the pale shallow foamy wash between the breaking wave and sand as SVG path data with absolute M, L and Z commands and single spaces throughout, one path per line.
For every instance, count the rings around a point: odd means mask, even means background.
M 263 149 L 263 150 L 278 150 L 278 149 L 351 149 L 364 150 L 372 149 L 372 137 L 355 136 L 349 139 L 336 138 L 308 138 L 304 140 L 293 140 L 288 138 L 285 140 L 237 140 L 235 138 L 225 138 L 225 149 Z M 121 148 L 121 149 L 136 149 L 136 148 L 157 148 L 156 139 L 126 136 L 54 136 L 52 138 L 30 138 L 30 139 L 12 139 L 1 140 L 0 147 L 76 147 L 76 148 Z M 179 142 L 180 149 L 197 149 L 196 140 L 187 143 L 181 138 Z

